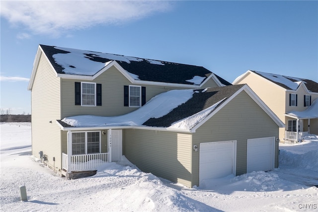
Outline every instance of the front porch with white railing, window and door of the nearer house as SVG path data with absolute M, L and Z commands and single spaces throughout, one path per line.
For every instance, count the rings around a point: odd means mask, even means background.
M 76 179 L 73 178 L 76 174 L 94 175 L 91 173 L 96 173 L 98 167 L 120 160 L 122 155 L 121 129 L 73 128 L 67 130 L 65 140 L 67 148 L 62 152 L 62 175 L 69 179 Z

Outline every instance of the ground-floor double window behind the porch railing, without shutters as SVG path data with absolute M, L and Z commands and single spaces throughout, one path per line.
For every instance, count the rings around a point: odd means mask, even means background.
M 73 132 L 72 155 L 99 153 L 100 132 Z

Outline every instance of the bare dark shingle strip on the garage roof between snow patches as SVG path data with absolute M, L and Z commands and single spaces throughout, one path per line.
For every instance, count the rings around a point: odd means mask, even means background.
M 245 84 L 219 88 L 209 88 L 206 92 L 203 93 L 203 89 L 196 90 L 199 92 L 194 93 L 193 97 L 186 103 L 174 108 L 171 112 L 160 118 L 150 118 L 145 123 L 143 123 L 143 125 L 169 127 L 172 123 L 182 120 L 183 118 L 191 116 L 197 112 L 200 112 L 210 106 L 213 106 L 224 98 L 230 98 L 244 85 Z M 222 103 L 220 105 L 222 105 Z

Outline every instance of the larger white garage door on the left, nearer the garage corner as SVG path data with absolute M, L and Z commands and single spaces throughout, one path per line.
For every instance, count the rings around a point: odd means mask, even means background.
M 235 173 L 236 141 L 200 144 L 199 181 Z

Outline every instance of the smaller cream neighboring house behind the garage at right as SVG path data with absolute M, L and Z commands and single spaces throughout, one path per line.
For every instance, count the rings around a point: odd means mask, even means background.
M 299 142 L 308 134 L 318 135 L 318 83 L 258 71 L 247 71 L 234 85 L 247 84 L 285 123 L 280 140 Z

